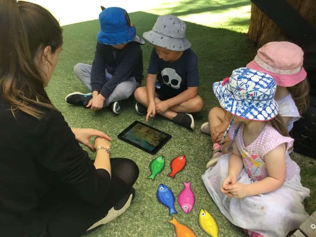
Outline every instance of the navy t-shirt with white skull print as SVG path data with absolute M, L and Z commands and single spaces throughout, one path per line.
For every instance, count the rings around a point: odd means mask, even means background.
M 181 57 L 173 63 L 160 59 L 153 48 L 148 73 L 157 74 L 157 80 L 173 88 L 174 94 L 199 85 L 197 56 L 191 48 L 183 51 Z

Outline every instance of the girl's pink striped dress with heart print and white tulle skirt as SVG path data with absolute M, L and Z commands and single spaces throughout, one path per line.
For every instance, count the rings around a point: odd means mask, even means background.
M 234 137 L 235 129 L 233 125 L 229 131 L 230 137 Z M 276 129 L 266 125 L 255 141 L 245 147 L 243 130 L 244 124 L 240 125 L 235 139 L 244 164 L 237 182 L 251 184 L 268 176 L 264 155 L 282 143 L 286 143 L 288 151 L 294 140 L 283 137 Z M 205 171 L 202 175 L 204 185 L 230 222 L 264 237 L 284 237 L 308 218 L 302 203 L 309 197 L 310 190 L 301 185 L 300 167 L 291 160 L 287 151 L 286 178 L 283 185 L 265 194 L 238 199 L 227 197 L 220 191 L 220 186 L 228 176 L 230 154 L 222 155 L 215 167 Z

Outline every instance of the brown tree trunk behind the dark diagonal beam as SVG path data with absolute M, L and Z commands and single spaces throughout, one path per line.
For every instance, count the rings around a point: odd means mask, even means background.
M 313 27 L 316 27 L 316 0 L 286 0 Z M 273 6 L 271 6 L 273 7 Z M 282 13 L 280 13 L 282 14 Z M 271 41 L 291 41 L 291 39 L 256 5 L 251 4 L 251 17 L 248 30 L 250 40 L 256 42 L 260 48 Z M 316 52 L 316 42 L 307 52 Z

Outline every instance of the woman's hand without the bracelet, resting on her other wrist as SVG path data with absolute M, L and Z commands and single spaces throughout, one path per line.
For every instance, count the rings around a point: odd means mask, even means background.
M 111 137 L 107 136 L 104 132 L 92 128 L 72 128 L 71 131 L 75 134 L 76 140 L 79 143 L 87 146 L 92 152 L 94 152 L 94 146 L 89 141 L 91 137 L 103 137 L 109 141 L 112 141 Z

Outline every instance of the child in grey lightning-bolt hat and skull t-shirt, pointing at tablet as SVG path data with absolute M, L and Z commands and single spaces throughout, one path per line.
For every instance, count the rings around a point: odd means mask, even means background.
M 197 56 L 185 38 L 185 23 L 173 15 L 159 16 L 153 30 L 143 37 L 153 44 L 146 87 L 134 93 L 136 111 L 154 117 L 156 113 L 190 130 L 192 112 L 199 112 L 203 100 L 197 95 Z M 158 83 L 156 80 L 158 79 Z

